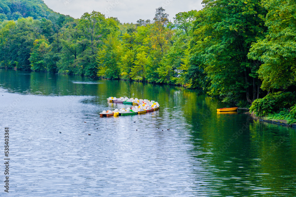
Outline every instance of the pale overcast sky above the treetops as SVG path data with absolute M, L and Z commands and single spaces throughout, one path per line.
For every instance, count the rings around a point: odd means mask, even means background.
M 106 17 L 117 17 L 121 23 L 138 19 L 153 19 L 155 9 L 163 7 L 169 19 L 179 12 L 202 9 L 202 0 L 44 0 L 53 11 L 80 18 L 85 12 L 93 10 L 105 14 Z

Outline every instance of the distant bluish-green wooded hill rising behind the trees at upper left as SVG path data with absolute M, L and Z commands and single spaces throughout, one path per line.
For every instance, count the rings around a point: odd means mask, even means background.
M 59 13 L 49 9 L 42 0 L 0 0 L 0 21 L 33 17 L 48 18 Z

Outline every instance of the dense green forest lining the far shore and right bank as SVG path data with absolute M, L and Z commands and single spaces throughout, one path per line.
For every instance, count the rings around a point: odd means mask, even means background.
M 153 19 L 122 24 L 96 11 L 74 19 L 41 0 L 0 0 L 0 67 L 182 85 L 261 111 L 260 99 L 295 88 L 294 1 L 203 4 L 173 21 L 160 7 Z M 277 108 L 290 113 L 293 98 Z

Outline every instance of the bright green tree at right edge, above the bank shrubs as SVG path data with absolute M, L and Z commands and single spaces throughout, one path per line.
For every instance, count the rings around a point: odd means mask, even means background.
M 268 10 L 268 34 L 252 45 L 249 58 L 258 60 L 264 90 L 296 84 L 296 4 L 295 1 L 263 1 Z

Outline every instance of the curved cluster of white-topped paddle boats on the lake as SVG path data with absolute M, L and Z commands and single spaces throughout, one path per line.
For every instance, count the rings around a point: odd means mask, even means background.
M 146 112 L 156 111 L 159 109 L 158 102 L 148 99 L 138 99 L 138 98 L 128 98 L 128 97 L 109 97 L 107 98 L 108 102 L 113 103 L 123 103 L 133 105 L 133 107 L 128 107 L 126 109 L 115 109 L 115 110 L 104 110 L 100 113 L 100 117 L 104 116 L 119 116 L 119 115 L 134 115 L 134 114 L 143 114 Z

